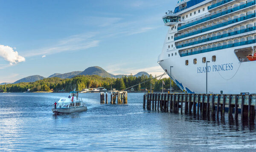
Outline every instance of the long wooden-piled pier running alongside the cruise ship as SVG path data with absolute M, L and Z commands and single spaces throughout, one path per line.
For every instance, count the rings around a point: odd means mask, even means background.
M 256 120 L 256 95 L 146 93 L 143 95 L 143 108 L 214 118 L 218 118 L 219 112 L 224 118 L 228 111 L 228 118 L 233 114 L 238 118 L 238 113 L 241 113 L 241 119 Z

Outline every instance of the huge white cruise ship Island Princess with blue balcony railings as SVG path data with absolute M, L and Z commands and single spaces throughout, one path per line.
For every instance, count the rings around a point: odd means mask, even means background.
M 255 0 L 178 0 L 158 63 L 187 93 L 256 93 Z

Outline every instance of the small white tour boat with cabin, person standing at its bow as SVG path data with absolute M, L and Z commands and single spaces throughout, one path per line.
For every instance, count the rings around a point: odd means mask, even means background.
M 78 92 L 70 92 L 67 98 L 61 98 L 52 104 L 52 112 L 55 115 L 86 111 L 87 106 L 78 98 Z

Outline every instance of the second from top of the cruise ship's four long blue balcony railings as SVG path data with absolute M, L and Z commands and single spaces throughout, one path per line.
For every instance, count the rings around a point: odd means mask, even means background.
M 217 28 L 227 26 L 227 25 L 230 25 L 230 24 L 233 24 L 233 23 L 237 23 L 237 22 L 240 22 L 240 21 L 243 21 L 243 20 L 247 20 L 247 19 L 255 17 L 255 14 L 256 13 L 248 14 L 246 16 L 238 17 L 236 19 L 229 20 L 229 21 L 224 22 L 224 23 L 220 23 L 220 24 L 217 24 L 217 25 L 214 25 L 214 26 L 210 26 L 208 28 L 204 28 L 204 29 L 201 29 L 201 30 L 198 30 L 198 31 L 195 31 L 195 32 L 188 33 L 188 34 L 184 34 L 184 35 L 181 35 L 179 37 L 175 37 L 174 40 L 179 40 L 181 38 L 189 37 L 189 36 L 192 36 L 192 35 L 195 35 L 195 34 L 207 32 L 207 31 L 212 30 L 212 29 L 217 29 Z

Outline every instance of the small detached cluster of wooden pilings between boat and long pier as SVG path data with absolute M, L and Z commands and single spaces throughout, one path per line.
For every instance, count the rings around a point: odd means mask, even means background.
M 100 93 L 100 103 L 105 103 L 105 100 L 104 100 L 104 95 L 105 93 L 104 92 L 101 92 Z M 127 102 L 127 91 L 119 91 L 119 92 L 111 92 L 111 101 L 110 103 L 111 104 L 115 104 L 116 103 L 116 99 L 117 99 L 117 103 L 118 104 L 126 104 L 128 103 Z M 108 104 L 108 93 L 106 93 L 106 104 Z

